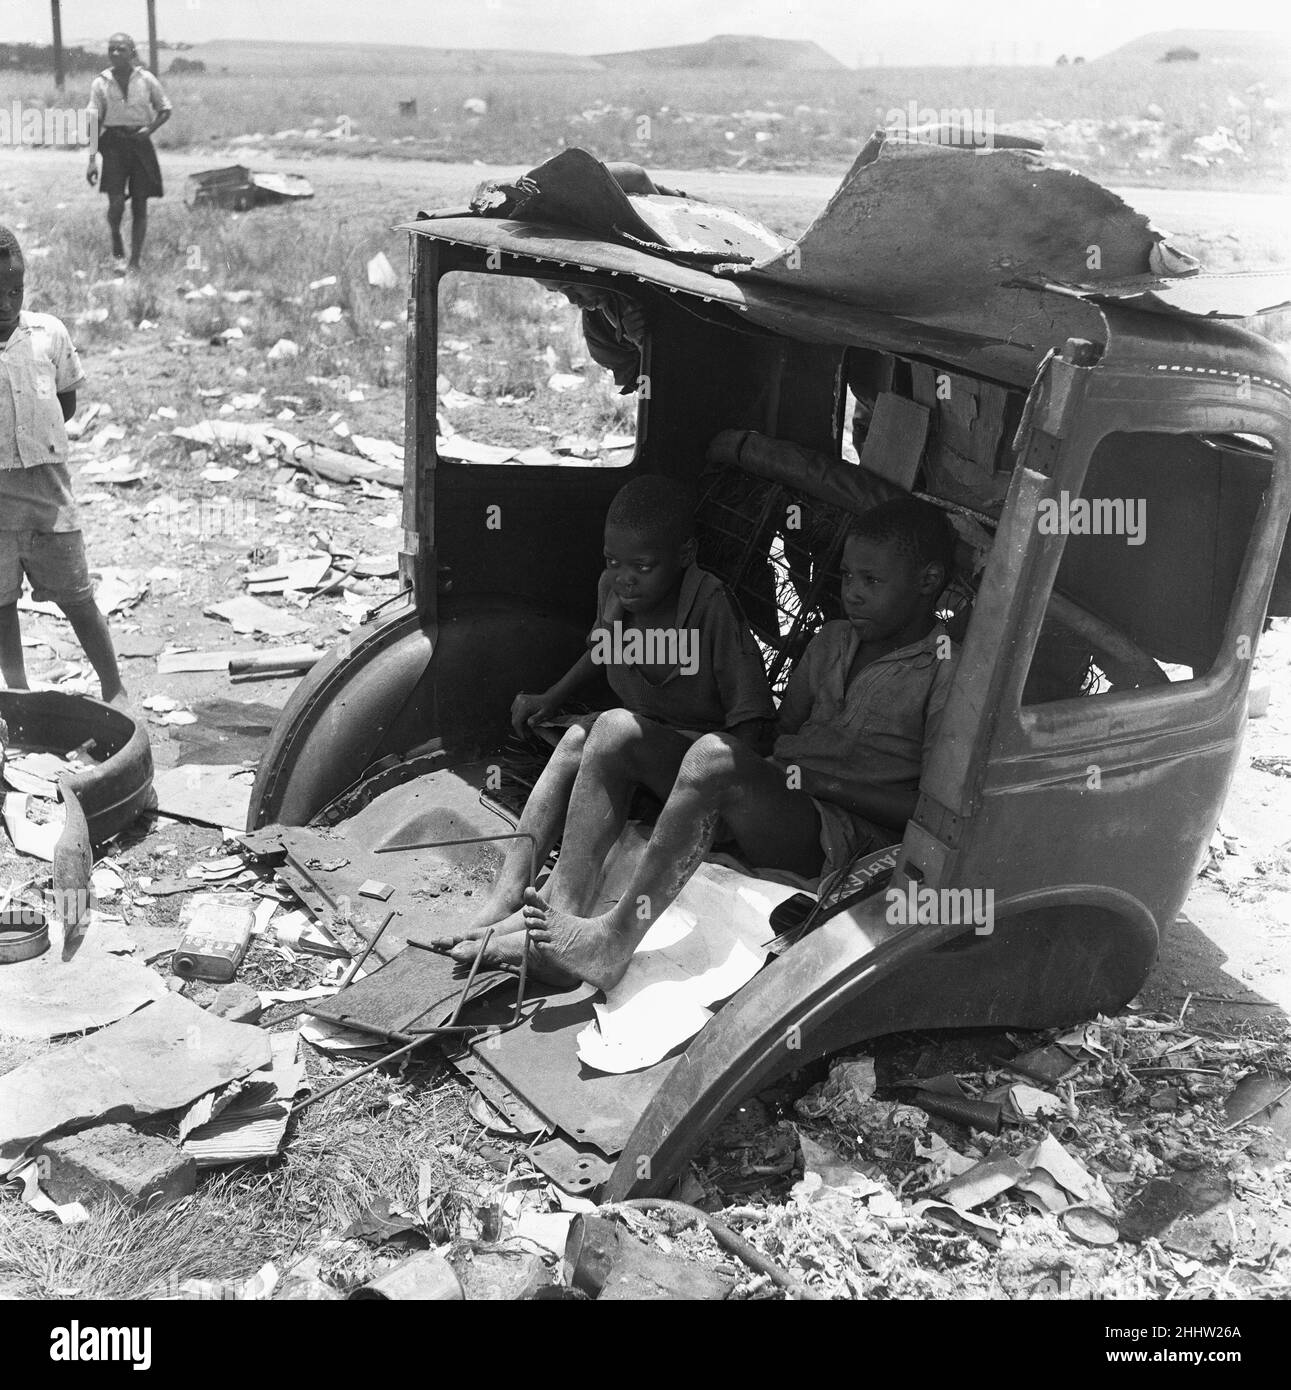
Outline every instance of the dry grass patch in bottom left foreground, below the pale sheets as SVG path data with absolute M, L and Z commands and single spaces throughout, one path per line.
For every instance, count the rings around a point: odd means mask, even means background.
M 352 1070 L 310 1054 L 321 1090 Z M 417 1211 L 418 1170 L 428 1163 L 435 1202 L 428 1234 L 456 1234 L 492 1169 L 475 1154 L 479 1129 L 466 1091 L 438 1063 L 378 1072 L 304 1111 L 283 1155 L 217 1169 L 197 1191 L 150 1212 L 113 1202 L 81 1226 L 58 1226 L 17 1202 L 0 1207 L 0 1297 L 157 1298 L 189 1279 L 238 1283 L 272 1261 L 281 1270 L 325 1247 L 324 1275 L 347 1289 L 370 1277 L 378 1252 L 340 1233 L 377 1198 Z M 492 1173 L 496 1179 L 496 1173 Z

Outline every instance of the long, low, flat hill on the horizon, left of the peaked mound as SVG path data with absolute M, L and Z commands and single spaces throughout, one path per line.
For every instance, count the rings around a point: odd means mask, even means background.
M 185 57 L 207 72 L 282 72 L 332 75 L 378 72 L 422 76 L 428 72 L 599 72 L 600 64 L 577 53 L 525 53 L 520 49 L 418 49 L 395 43 L 264 43 L 222 39 L 195 43 Z

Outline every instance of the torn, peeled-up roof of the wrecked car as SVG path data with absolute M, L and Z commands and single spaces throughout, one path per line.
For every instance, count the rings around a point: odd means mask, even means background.
M 1121 304 L 1252 328 L 1291 303 L 1291 277 L 1163 272 L 1195 263 L 1109 189 L 1019 150 L 880 132 L 792 243 L 716 204 L 630 196 L 584 150 L 482 192 L 474 211 L 404 229 L 631 277 L 809 342 L 935 356 L 1017 385 L 1067 338 L 1106 343 Z M 1234 335 L 1235 350 L 1242 342 Z

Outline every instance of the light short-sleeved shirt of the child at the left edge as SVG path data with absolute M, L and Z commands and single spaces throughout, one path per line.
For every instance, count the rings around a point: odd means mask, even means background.
M 85 381 L 63 321 L 22 310 L 0 343 L 0 468 L 67 461 L 67 430 L 58 393 Z

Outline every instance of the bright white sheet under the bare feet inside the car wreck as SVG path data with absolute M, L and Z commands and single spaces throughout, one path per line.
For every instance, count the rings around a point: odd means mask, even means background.
M 638 827 L 624 831 L 606 870 L 606 905 L 621 897 L 645 844 Z M 700 865 L 646 933 L 623 980 L 593 1005 L 596 1023 L 578 1034 L 579 1059 L 598 1072 L 635 1072 L 693 1037 L 713 1016 L 709 1005 L 762 969 L 774 937 L 771 912 L 793 892 L 725 865 Z

